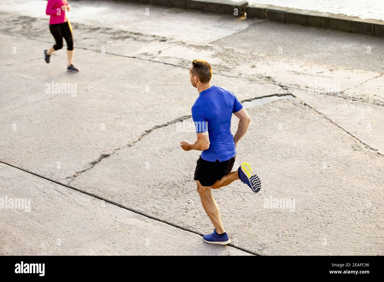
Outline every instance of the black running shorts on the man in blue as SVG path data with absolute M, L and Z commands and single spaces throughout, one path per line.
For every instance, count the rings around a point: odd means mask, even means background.
M 224 162 L 209 162 L 200 158 L 197 160 L 194 180 L 199 180 L 202 186 L 212 186 L 217 180 L 230 173 L 235 163 L 235 157 Z

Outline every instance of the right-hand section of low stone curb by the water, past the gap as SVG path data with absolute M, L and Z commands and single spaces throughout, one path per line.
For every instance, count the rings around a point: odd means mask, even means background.
M 384 21 L 361 19 L 357 16 L 253 4 L 246 8 L 247 18 L 293 23 L 384 37 Z

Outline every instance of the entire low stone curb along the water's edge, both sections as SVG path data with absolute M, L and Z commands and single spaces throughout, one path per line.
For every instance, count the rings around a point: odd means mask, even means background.
M 262 20 L 292 23 L 384 37 L 384 21 L 343 14 L 323 13 L 266 4 L 248 5 L 248 1 L 230 0 L 124 0 L 168 7 L 200 10 L 223 15 L 247 16 Z M 237 10 L 236 10 L 237 9 Z M 246 14 L 245 14 L 246 13 Z

